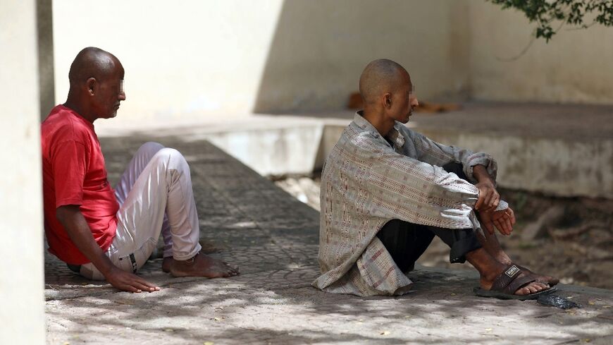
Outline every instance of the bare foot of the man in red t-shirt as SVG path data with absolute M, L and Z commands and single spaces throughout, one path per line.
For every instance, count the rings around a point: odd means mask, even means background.
M 170 271 L 174 277 L 221 278 L 237 275 L 238 267 L 232 267 L 209 255 L 198 253 L 189 260 L 171 260 Z

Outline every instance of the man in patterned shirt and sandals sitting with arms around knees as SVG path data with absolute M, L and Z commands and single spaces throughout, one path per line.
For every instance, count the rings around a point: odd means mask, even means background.
M 515 217 L 495 189 L 495 161 L 402 124 L 419 104 L 398 63 L 369 63 L 359 90 L 364 110 L 321 176 L 322 274 L 313 285 L 359 296 L 406 293 L 405 273 L 438 236 L 451 248 L 450 262 L 468 260 L 481 274 L 480 296 L 528 299 L 554 291 L 557 279 L 515 265 L 500 248 L 494 226 L 509 235 Z

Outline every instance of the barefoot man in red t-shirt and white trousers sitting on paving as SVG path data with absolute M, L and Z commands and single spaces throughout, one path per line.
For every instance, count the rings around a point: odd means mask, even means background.
M 135 273 L 163 234 L 163 270 L 175 277 L 230 277 L 235 267 L 199 253 L 190 167 L 176 150 L 140 147 L 115 191 L 94 121 L 125 100 L 123 66 L 88 47 L 70 66 L 70 91 L 41 126 L 44 229 L 49 251 L 89 279 L 124 291 L 158 291 Z

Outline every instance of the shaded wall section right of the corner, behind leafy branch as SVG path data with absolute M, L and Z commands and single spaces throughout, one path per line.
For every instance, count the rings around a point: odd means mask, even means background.
M 613 28 L 562 28 L 530 42 L 523 14 L 471 1 L 471 97 L 503 101 L 613 104 Z M 556 24 L 554 25 L 556 27 Z

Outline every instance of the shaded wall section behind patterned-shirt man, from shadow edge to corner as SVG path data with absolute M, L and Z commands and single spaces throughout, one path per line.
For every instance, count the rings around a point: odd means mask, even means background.
M 342 109 L 383 57 L 407 68 L 421 97 L 466 97 L 468 13 L 443 0 L 285 1 L 255 111 Z

